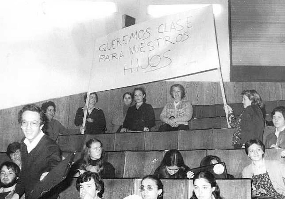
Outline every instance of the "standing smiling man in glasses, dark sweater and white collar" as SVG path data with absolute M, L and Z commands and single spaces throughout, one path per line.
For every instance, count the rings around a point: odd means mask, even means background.
M 21 141 L 22 173 L 12 199 L 19 199 L 25 192 L 26 199 L 39 181 L 61 161 L 60 148 L 42 132 L 44 121 L 40 107 L 25 105 L 18 113 L 18 121 L 25 137 Z M 52 191 L 41 198 L 57 198 Z

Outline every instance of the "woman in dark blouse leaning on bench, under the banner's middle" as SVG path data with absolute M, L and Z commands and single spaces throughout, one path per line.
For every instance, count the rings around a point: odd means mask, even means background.
M 121 132 L 150 131 L 155 126 L 155 116 L 152 106 L 145 103 L 146 92 L 135 88 L 133 96 L 136 104 L 129 107 Z

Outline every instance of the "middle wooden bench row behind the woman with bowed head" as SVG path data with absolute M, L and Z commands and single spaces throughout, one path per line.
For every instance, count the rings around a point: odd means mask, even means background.
M 284 149 L 266 149 L 265 159 L 280 160 L 280 152 Z M 180 151 L 185 164 L 190 168 L 200 166 L 200 161 L 207 155 L 215 155 L 226 163 L 227 172 L 235 178 L 241 178 L 242 170 L 251 163 L 244 150 L 190 150 Z M 160 165 L 166 151 L 116 151 L 106 152 L 105 157 L 115 167 L 116 177 L 118 178 L 141 178 L 145 175 L 153 174 Z M 70 152 L 65 152 L 66 157 Z M 80 158 L 80 153 L 76 154 L 76 160 Z

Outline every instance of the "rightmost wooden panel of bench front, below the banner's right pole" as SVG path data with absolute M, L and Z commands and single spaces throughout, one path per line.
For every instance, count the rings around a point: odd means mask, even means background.
M 213 148 L 232 149 L 231 140 L 235 128 L 213 129 Z

